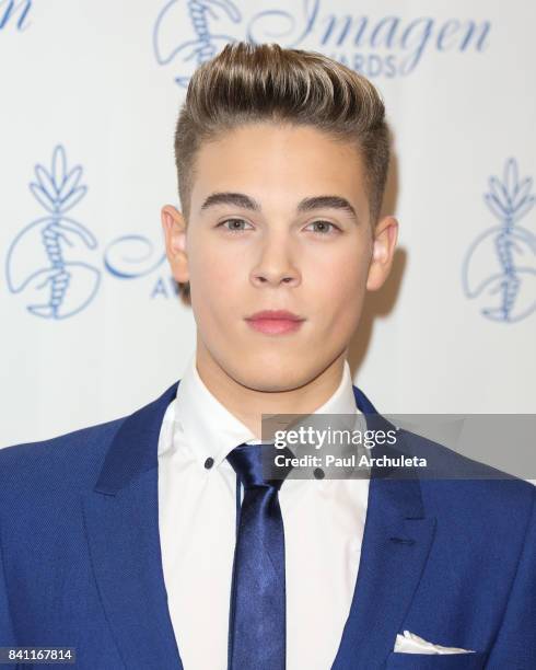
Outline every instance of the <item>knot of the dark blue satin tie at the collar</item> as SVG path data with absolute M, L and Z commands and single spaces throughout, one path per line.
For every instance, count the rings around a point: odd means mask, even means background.
M 286 465 L 284 461 L 279 465 L 276 461 L 278 455 L 292 457 L 293 454 L 287 447 L 276 449 L 272 443 L 241 444 L 228 454 L 228 461 L 245 489 L 254 486 L 271 486 L 279 490 L 283 480 L 292 470 L 292 465 Z

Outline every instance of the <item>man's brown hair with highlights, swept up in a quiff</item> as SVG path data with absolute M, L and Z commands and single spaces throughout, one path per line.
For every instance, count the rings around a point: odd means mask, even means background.
M 384 117 L 384 104 L 373 84 L 336 60 L 278 44 L 226 44 L 196 69 L 178 115 L 175 163 L 186 222 L 201 143 L 245 124 L 273 122 L 312 126 L 335 140 L 356 145 L 374 226 L 389 163 Z

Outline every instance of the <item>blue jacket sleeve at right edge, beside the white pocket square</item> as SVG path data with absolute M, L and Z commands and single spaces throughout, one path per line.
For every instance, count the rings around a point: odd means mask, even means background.
M 536 668 L 536 486 L 525 542 L 486 670 Z

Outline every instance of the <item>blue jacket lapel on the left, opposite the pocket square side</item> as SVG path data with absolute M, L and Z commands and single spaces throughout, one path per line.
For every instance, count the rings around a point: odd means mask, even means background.
M 177 386 L 125 419 L 93 490 L 82 494 L 95 580 L 129 670 L 183 668 L 167 608 L 158 500 L 160 428 Z

